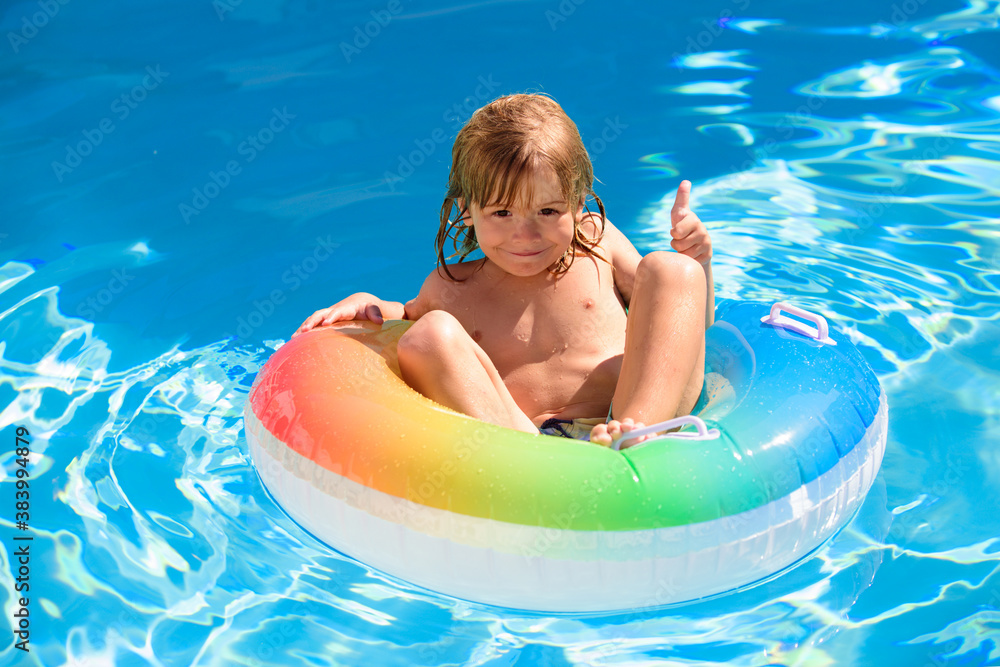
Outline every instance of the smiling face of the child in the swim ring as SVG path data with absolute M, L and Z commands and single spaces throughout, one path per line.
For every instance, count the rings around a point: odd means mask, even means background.
M 476 241 L 487 259 L 515 276 L 547 272 L 573 243 L 574 222 L 583 212 L 582 202 L 570 206 L 550 169 L 537 169 L 529 177 L 531 197 L 517 203 L 469 205 L 466 225 L 473 225 Z

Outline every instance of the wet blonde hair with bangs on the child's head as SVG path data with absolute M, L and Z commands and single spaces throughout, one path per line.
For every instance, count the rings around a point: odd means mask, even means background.
M 531 176 L 546 167 L 558 178 L 562 195 L 573 213 L 573 242 L 550 271 L 565 272 L 577 251 L 600 257 L 595 248 L 604 235 L 604 203 L 594 192 L 594 167 L 576 124 L 551 97 L 518 94 L 501 97 L 478 109 L 455 138 L 448 192 L 441 205 L 441 226 L 434 241 L 438 268 L 456 280 L 445 260 L 444 249 L 449 239 L 454 249 L 450 257 L 457 256 L 459 261 L 479 248 L 476 230 L 465 224 L 470 203 L 485 208 L 530 198 Z M 576 214 L 587 197 L 593 197 L 601 214 L 600 231 L 595 238 L 583 232 Z M 458 208 L 458 216 L 452 220 L 454 208 Z

